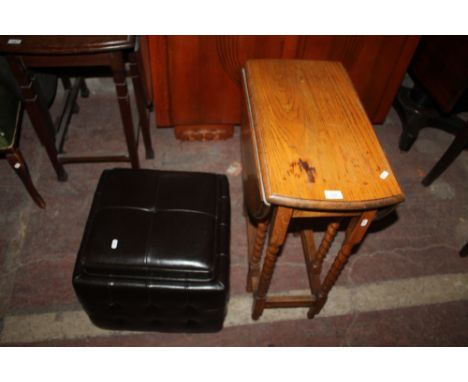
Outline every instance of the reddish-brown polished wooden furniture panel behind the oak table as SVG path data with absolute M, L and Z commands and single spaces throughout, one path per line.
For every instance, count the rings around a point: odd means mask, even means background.
M 373 123 L 382 123 L 411 60 L 414 36 L 150 36 L 156 123 L 229 127 L 241 120 L 250 58 L 343 62 Z

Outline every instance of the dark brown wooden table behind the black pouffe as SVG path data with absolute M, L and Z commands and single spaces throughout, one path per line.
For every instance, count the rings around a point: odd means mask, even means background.
M 64 163 L 125 161 L 130 162 L 133 168 L 140 167 L 137 152 L 139 130 L 133 124 L 127 84 L 129 78 L 133 82 L 138 125 L 141 128 L 146 157 L 154 156 L 149 130 L 148 106 L 151 100 L 143 78 L 142 57 L 135 36 L 0 36 L 0 53 L 4 54 L 10 63 L 20 86 L 26 111 L 60 180 L 66 179 L 62 166 Z M 128 155 L 61 154 L 75 99 L 80 90 L 82 95 L 86 96 L 87 88 L 81 78 L 77 78 L 73 86 L 67 84 L 68 95 L 64 111 L 58 126 L 55 126 L 36 78 L 31 77 L 28 72 L 31 68 L 46 68 L 54 73 L 66 75 L 76 72 L 80 73 L 78 76 L 82 75 L 83 69 L 86 69 L 86 74 L 91 75 L 101 75 L 103 69 L 107 69 L 114 79 Z

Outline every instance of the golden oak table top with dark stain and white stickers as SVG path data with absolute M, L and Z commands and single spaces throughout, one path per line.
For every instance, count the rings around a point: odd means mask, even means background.
M 243 76 L 266 204 L 329 211 L 404 200 L 341 63 L 251 60 Z

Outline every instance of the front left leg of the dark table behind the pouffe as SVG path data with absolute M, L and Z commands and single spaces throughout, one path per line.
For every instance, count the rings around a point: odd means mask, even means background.
M 26 111 L 36 134 L 45 147 L 52 166 L 60 181 L 67 180 L 67 173 L 60 163 L 55 147 L 55 127 L 41 89 L 34 77 L 30 80 L 23 61 L 16 56 L 7 56 L 13 75 L 20 87 Z

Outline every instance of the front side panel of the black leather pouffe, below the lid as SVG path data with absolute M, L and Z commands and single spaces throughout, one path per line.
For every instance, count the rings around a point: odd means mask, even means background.
M 102 281 L 81 277 L 74 287 L 83 308 L 103 328 L 202 330 L 222 327 L 226 314 L 224 285 L 187 287 L 186 283 Z

